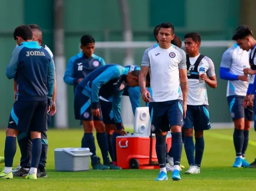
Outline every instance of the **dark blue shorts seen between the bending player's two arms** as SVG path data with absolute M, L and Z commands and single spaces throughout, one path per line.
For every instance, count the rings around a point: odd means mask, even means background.
M 112 102 L 100 99 L 100 107 L 102 112 L 103 123 L 106 125 L 115 124 L 113 119 Z

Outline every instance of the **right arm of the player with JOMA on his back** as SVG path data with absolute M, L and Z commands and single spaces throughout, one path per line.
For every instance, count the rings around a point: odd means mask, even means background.
M 48 105 L 52 105 L 52 96 L 54 90 L 54 63 L 51 59 L 50 64 L 48 66 L 47 72 L 47 90 L 48 90 Z

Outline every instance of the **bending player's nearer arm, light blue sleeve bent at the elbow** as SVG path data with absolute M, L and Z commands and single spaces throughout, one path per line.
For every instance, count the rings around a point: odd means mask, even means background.
M 99 91 L 100 87 L 106 84 L 109 80 L 120 77 L 123 74 L 123 66 L 111 66 L 103 71 L 96 79 L 92 81 L 92 109 L 99 108 Z

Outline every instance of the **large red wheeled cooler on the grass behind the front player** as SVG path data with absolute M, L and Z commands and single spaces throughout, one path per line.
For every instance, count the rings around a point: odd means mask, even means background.
M 122 169 L 157 169 L 159 168 L 156 157 L 155 136 L 141 136 L 131 134 L 118 136 L 117 165 Z M 172 135 L 167 134 L 167 150 L 172 146 Z

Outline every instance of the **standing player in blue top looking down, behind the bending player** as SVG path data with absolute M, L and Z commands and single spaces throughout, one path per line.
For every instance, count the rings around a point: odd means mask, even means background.
M 106 65 L 105 61 L 99 56 L 94 54 L 95 50 L 95 40 L 91 35 L 84 35 L 81 37 L 81 46 L 82 51 L 75 56 L 73 56 L 66 66 L 66 71 L 64 74 L 64 81 L 68 85 L 74 86 L 74 91 L 76 86 L 85 78 L 88 74 L 94 71 L 96 68 Z M 107 136 L 105 132 L 105 126 L 101 121 L 95 119 L 94 122 L 96 129 L 96 137 L 99 147 L 101 149 L 101 154 L 103 161 L 107 165 L 102 165 L 97 163 L 94 165 L 93 169 L 109 169 L 117 168 L 115 165 L 112 165 L 108 158 L 108 149 L 106 149 L 105 142 L 107 141 Z M 84 135 L 86 136 L 86 129 L 84 129 Z M 106 139 L 106 140 L 105 140 Z M 82 138 L 82 148 L 86 145 L 86 137 Z

